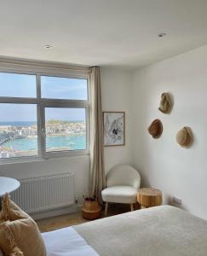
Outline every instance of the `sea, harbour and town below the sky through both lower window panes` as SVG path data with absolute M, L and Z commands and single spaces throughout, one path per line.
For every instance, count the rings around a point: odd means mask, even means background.
M 85 150 L 86 125 L 84 120 L 46 122 L 47 151 Z M 0 158 L 37 155 L 37 122 L 0 122 Z

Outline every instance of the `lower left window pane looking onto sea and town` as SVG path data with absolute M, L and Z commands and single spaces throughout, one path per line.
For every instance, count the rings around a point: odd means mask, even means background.
M 37 105 L 0 103 L 1 158 L 37 152 Z

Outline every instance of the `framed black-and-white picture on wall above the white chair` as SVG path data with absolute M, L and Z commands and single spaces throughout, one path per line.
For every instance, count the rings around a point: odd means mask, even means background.
M 125 145 L 125 113 L 103 112 L 104 146 Z

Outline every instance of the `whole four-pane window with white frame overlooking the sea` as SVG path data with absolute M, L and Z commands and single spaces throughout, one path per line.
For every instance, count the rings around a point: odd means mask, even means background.
M 0 72 L 0 159 L 88 153 L 88 76 Z

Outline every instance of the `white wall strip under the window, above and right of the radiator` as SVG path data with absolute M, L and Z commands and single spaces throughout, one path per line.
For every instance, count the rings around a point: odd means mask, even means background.
M 0 166 L 0 176 L 15 177 L 18 179 L 49 176 L 66 172 L 74 172 L 75 195 L 78 195 L 81 202 L 82 195 L 88 193 L 89 156 L 56 158 Z

